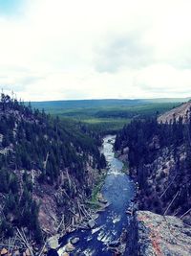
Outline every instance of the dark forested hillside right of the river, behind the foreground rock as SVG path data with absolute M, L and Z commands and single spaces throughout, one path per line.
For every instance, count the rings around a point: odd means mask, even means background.
M 128 154 L 138 181 L 138 209 L 191 221 L 191 111 L 169 123 L 134 120 L 117 134 L 116 150 Z

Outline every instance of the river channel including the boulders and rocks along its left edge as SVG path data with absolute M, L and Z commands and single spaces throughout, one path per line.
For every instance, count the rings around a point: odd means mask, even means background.
M 135 188 L 133 180 L 122 171 L 123 163 L 115 157 L 115 139 L 114 135 L 108 135 L 103 139 L 102 152 L 107 161 L 108 172 L 104 182 L 97 184 L 93 194 L 94 200 L 97 198 L 99 203 L 106 205 L 107 208 L 104 211 L 98 210 L 95 220 L 90 220 L 93 217 L 89 216 L 86 220 L 86 224 L 89 221 L 89 229 L 87 226 L 77 227 L 74 232 L 65 235 L 60 241 L 59 255 L 71 253 L 68 250 L 80 255 L 104 253 L 106 256 L 113 255 L 115 251 L 118 253 L 124 251 L 124 237 L 130 218 L 126 210 L 134 198 Z M 73 244 L 76 239 L 77 243 Z M 49 255 L 53 256 L 53 254 Z

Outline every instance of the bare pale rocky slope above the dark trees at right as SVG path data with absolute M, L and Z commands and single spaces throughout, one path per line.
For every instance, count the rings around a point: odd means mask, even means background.
M 173 108 L 172 110 L 162 114 L 158 118 L 158 122 L 170 123 L 173 122 L 174 118 L 178 121 L 181 117 L 183 122 L 186 121 L 190 112 L 191 102 L 180 105 L 179 107 Z

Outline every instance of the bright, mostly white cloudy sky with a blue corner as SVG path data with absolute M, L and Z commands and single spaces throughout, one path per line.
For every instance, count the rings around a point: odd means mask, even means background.
M 190 0 L 0 0 L 0 88 L 24 101 L 191 96 Z

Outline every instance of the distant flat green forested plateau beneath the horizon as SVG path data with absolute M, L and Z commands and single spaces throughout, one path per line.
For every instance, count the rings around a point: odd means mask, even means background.
M 108 133 L 116 132 L 133 118 L 159 115 L 189 100 L 190 98 L 49 101 L 32 102 L 32 107 L 44 109 L 60 119 L 72 119 L 98 132 Z

